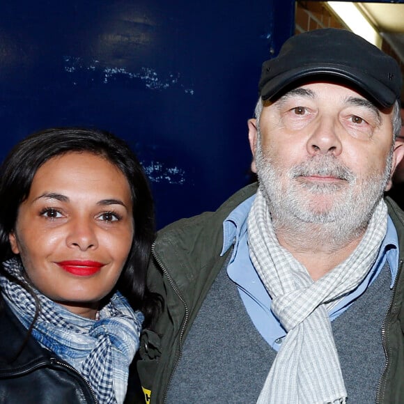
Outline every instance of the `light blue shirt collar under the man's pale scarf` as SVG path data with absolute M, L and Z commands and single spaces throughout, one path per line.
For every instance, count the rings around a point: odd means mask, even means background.
M 272 348 L 279 350 L 286 331 L 272 313 L 271 297 L 249 258 L 247 217 L 254 199 L 255 195 L 238 205 L 223 222 L 224 242 L 221 255 L 225 254 L 234 244 L 227 267 L 228 277 L 238 286 L 242 302 L 256 329 Z M 330 320 L 337 318 L 357 297 L 364 293 L 366 288 L 378 277 L 386 260 L 391 270 L 390 287 L 392 288 L 398 270 L 398 237 L 390 217 L 387 220 L 387 233 L 380 246 L 375 264 L 362 283 L 329 311 Z

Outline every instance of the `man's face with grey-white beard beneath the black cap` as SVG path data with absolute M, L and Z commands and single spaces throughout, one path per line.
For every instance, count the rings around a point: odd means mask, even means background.
M 263 108 L 261 139 L 249 124 L 275 223 L 329 224 L 338 233 L 366 225 L 389 180 L 391 109 L 345 86 L 314 83 Z

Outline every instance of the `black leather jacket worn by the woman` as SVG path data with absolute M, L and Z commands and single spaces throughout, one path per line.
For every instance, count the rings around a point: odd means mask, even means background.
M 77 404 L 98 403 L 93 389 L 69 364 L 29 337 L 16 359 L 27 331 L 1 302 L 0 309 L 0 403 Z M 130 373 L 125 403 L 144 403 L 139 384 Z

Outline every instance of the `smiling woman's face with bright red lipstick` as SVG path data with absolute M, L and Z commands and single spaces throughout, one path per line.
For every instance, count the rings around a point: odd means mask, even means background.
M 36 171 L 10 244 L 43 295 L 94 318 L 118 281 L 133 233 L 123 173 L 100 156 L 68 153 Z

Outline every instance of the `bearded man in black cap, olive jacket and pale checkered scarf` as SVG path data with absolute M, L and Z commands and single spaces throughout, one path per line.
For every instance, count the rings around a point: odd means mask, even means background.
M 286 41 L 259 89 L 259 187 L 155 242 L 150 287 L 165 309 L 141 342 L 146 396 L 403 402 L 404 214 L 382 198 L 403 156 L 401 71 L 323 29 Z

